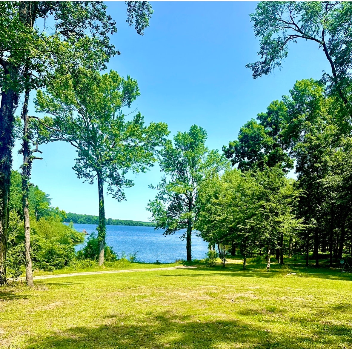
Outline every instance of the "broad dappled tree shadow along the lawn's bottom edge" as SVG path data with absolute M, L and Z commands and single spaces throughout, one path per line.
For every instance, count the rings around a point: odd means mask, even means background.
M 315 323 L 313 329 L 307 329 L 306 322 L 302 325 L 297 320 L 292 335 L 271 331 L 268 324 L 256 326 L 236 320 L 200 322 L 166 312 L 149 313 L 138 319 L 113 314 L 108 318 L 110 323 L 99 327 L 73 327 L 43 338 L 33 337 L 25 349 L 342 348 L 352 339 L 350 326 Z

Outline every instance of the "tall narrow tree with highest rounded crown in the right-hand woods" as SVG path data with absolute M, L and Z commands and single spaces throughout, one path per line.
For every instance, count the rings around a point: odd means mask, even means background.
M 318 266 L 324 201 L 321 180 L 328 174 L 329 157 L 339 143 L 335 105 L 333 98 L 326 98 L 321 83 L 312 79 L 297 81 L 290 94 L 291 99 L 286 101 L 290 122 L 283 137 L 291 156 L 296 159 L 298 186 L 304 192 L 300 214 L 308 224 L 307 251 L 313 237 Z

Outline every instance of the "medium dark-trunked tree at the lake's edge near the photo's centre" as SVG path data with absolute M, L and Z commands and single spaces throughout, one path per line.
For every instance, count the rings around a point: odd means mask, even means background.
M 160 152 L 160 167 L 165 177 L 157 187 L 159 190 L 154 201 L 147 207 L 156 223 L 155 229 L 165 229 L 164 235 L 186 231 L 187 260 L 192 260 L 191 235 L 198 219 L 198 189 L 224 169 L 226 161 L 218 151 L 209 151 L 205 146 L 205 129 L 193 125 L 189 132 L 178 132 L 174 145 L 167 141 Z

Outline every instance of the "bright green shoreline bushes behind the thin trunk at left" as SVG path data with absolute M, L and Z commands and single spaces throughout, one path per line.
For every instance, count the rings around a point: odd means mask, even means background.
M 18 277 L 25 267 L 21 176 L 12 171 L 11 178 L 7 275 Z M 73 244 L 83 242 L 83 234 L 62 224 L 64 211 L 50 207 L 48 194 L 36 185 L 30 186 L 29 212 L 33 267 L 53 271 L 68 266 L 75 257 Z

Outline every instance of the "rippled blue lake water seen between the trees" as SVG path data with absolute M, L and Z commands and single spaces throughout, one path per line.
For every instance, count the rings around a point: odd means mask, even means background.
M 74 224 L 77 231 L 86 229 L 87 233 L 96 234 L 95 224 Z M 127 255 L 136 251 L 137 260 L 152 263 L 158 260 L 162 263 L 175 262 L 176 259 L 187 259 L 186 240 L 179 236 L 182 232 L 174 235 L 163 235 L 163 229 L 155 230 L 153 227 L 132 226 L 106 226 L 106 244 L 121 256 L 122 251 Z M 89 238 L 86 235 L 85 240 Z M 75 246 L 76 251 L 82 249 L 84 242 Z M 202 259 L 208 250 L 208 243 L 192 234 L 192 258 Z

